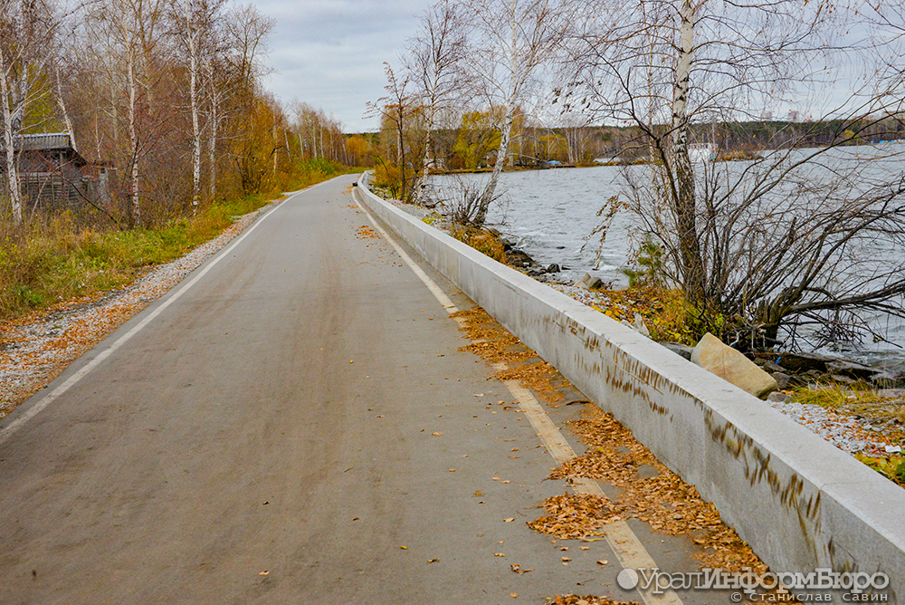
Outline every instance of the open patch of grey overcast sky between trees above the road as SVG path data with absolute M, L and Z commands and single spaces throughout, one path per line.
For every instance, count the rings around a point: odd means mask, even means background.
M 376 130 L 367 101 L 384 94 L 384 62 L 394 66 L 432 0 L 253 0 L 276 21 L 270 90 L 332 113 L 346 132 Z

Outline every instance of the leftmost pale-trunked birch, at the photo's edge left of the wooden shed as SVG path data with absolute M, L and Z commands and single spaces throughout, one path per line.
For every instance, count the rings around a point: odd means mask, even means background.
M 15 225 L 22 224 L 17 145 L 28 109 L 47 94 L 58 17 L 42 1 L 0 0 L 0 114 L 6 195 Z

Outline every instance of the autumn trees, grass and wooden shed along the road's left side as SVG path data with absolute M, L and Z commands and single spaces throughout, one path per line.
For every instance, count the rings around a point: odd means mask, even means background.
M 129 283 L 362 137 L 263 86 L 272 20 L 210 0 L 14 0 L 0 14 L 0 321 Z

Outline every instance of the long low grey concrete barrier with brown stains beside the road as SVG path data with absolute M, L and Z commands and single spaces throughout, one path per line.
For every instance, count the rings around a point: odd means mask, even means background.
M 772 571 L 883 572 L 888 602 L 905 601 L 905 490 L 603 313 L 425 225 L 367 186 L 358 192 L 463 293 L 697 487 Z

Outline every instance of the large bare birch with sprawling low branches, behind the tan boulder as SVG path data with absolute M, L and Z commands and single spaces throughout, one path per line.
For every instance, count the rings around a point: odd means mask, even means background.
M 851 335 L 867 313 L 902 314 L 901 259 L 869 261 L 866 251 L 901 248 L 905 182 L 891 167 L 905 156 L 848 151 L 861 135 L 895 138 L 889 116 L 902 98 L 900 87 L 878 86 L 891 46 L 845 37 L 861 14 L 798 0 L 590 8 L 559 101 L 633 126 L 632 145 L 651 149 L 648 168 L 624 170 L 619 203 L 660 250 L 700 331 L 770 346 L 805 324 Z M 719 159 L 734 125 L 771 106 L 815 117 L 747 141 L 755 151 L 744 162 L 691 158 L 698 142 Z

